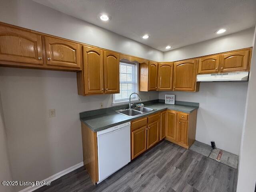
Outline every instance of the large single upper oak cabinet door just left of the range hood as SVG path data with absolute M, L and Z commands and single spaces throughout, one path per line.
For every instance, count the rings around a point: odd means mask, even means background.
M 196 59 L 174 62 L 174 90 L 195 90 L 196 62 Z

